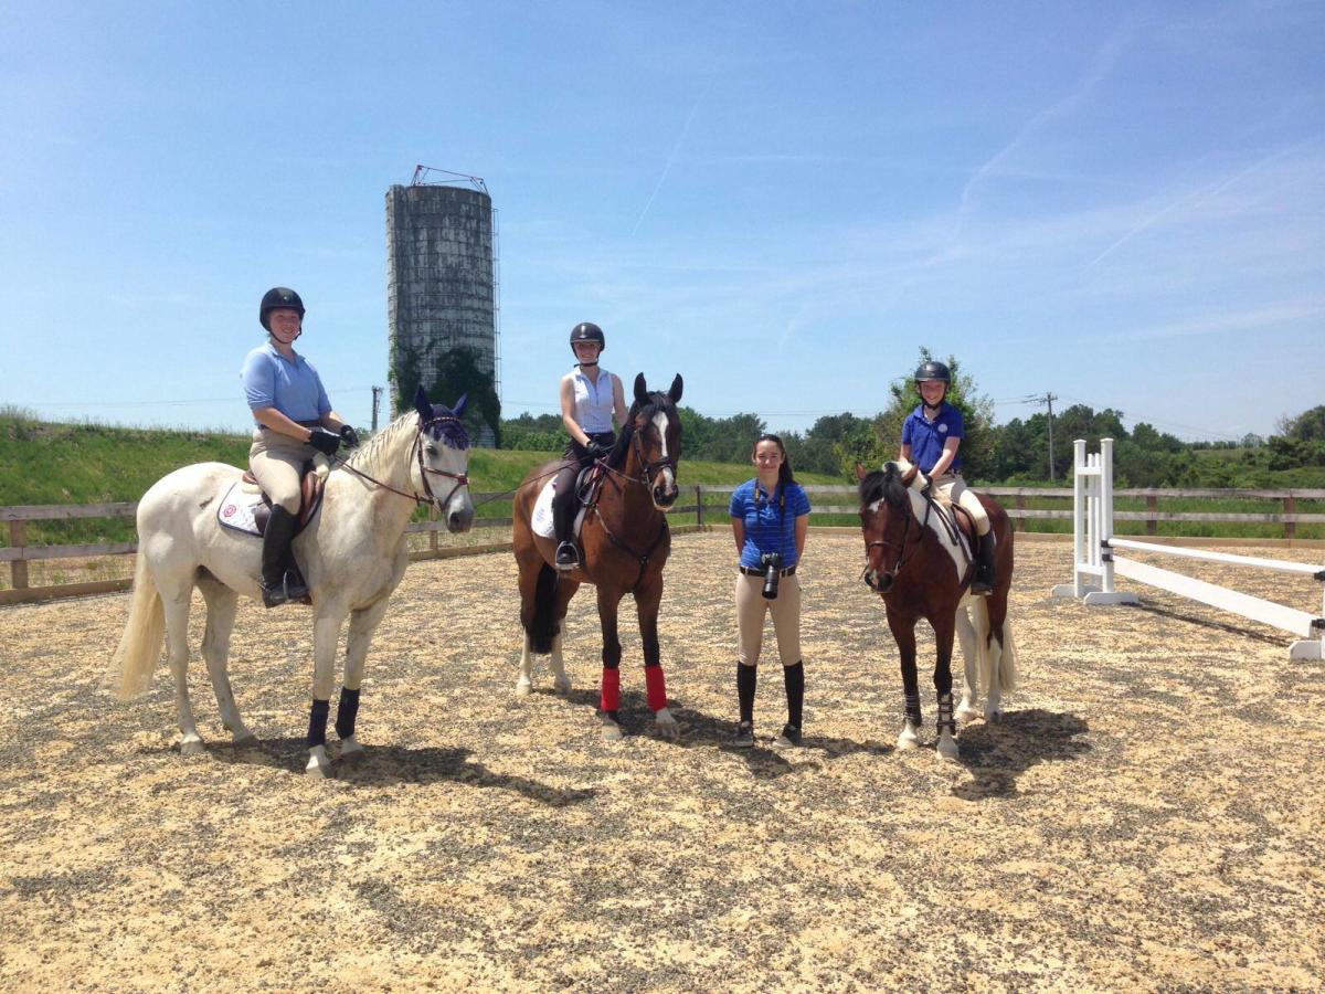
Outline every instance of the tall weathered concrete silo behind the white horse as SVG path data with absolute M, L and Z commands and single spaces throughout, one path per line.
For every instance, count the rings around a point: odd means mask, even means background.
M 472 188 L 423 182 L 431 172 L 420 166 L 413 183 L 387 191 L 392 379 L 413 358 L 427 383 L 440 359 L 464 347 L 500 394 L 492 197 L 481 179 L 465 178 Z M 490 445 L 492 433 L 482 435 L 477 441 Z

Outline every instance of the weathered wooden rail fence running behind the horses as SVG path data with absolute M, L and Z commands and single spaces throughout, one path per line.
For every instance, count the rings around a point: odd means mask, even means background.
M 693 494 L 694 504 L 688 504 L 672 509 L 672 521 L 676 526 L 696 525 L 726 525 L 726 500 L 731 494 L 733 486 L 688 486 L 684 488 L 686 496 Z M 814 516 L 849 514 L 859 510 L 856 504 L 855 486 L 824 486 L 810 485 L 806 490 L 819 498 L 835 496 L 845 497 L 841 504 L 820 504 L 815 501 Z M 1072 520 L 1072 489 L 1071 488 L 1020 488 L 1020 486 L 988 486 L 979 488 L 980 493 L 999 498 L 1008 516 L 1012 518 L 1018 531 L 1026 531 L 1028 522 L 1059 520 L 1069 522 Z M 1179 489 L 1132 489 L 1114 490 L 1116 497 L 1145 498 L 1146 509 L 1116 510 L 1116 521 L 1143 521 L 1146 534 L 1158 534 L 1161 522 L 1236 522 L 1277 525 L 1283 538 L 1291 539 L 1297 535 L 1300 524 L 1325 524 L 1325 514 L 1300 513 L 1297 501 L 1322 501 L 1325 490 L 1179 490 Z M 485 500 L 501 500 L 509 497 L 505 493 L 476 493 L 474 502 Z M 1057 498 L 1064 504 L 1061 508 L 1030 508 L 1030 501 L 1043 498 Z M 1283 512 L 1162 512 L 1161 500 L 1259 500 L 1277 501 Z M 87 594 L 105 594 L 115 590 L 127 590 L 130 579 L 90 580 L 85 583 L 60 583 L 53 586 L 33 587 L 28 582 L 28 563 L 41 559 L 86 559 L 105 555 L 130 555 L 138 546 L 135 542 L 101 542 L 94 545 L 28 545 L 26 526 L 29 521 L 69 521 L 73 518 L 131 518 L 136 510 L 136 504 L 60 504 L 60 505 L 32 505 L 0 508 L 0 522 L 9 525 L 9 545 L 0 546 L 0 563 L 9 563 L 11 590 L 0 590 L 0 604 L 13 604 L 33 600 L 48 600 L 53 598 L 83 596 Z M 689 516 L 694 516 L 693 522 Z M 510 527 L 511 520 L 506 518 L 476 518 L 476 529 Z M 447 555 L 465 555 L 470 553 L 493 551 L 494 549 L 509 547 L 509 542 L 489 543 L 482 546 L 443 547 L 439 542 L 439 533 L 445 530 L 445 522 L 436 520 L 433 512 L 429 521 L 411 522 L 411 533 L 427 533 L 428 547 L 415 550 L 411 559 L 433 559 Z M 1228 539 L 1236 542 L 1238 539 Z

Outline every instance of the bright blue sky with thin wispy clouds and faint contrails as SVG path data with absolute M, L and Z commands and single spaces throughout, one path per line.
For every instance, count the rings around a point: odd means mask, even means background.
M 0 4 L 0 403 L 241 428 L 273 284 L 386 383 L 387 187 L 498 209 L 507 416 L 578 321 L 775 428 L 921 345 L 998 420 L 1325 402 L 1325 4 Z

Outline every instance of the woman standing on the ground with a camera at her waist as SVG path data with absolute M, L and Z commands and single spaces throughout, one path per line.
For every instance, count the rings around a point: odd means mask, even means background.
M 800 660 L 800 580 L 796 565 L 810 530 L 810 498 L 791 474 L 787 449 L 776 435 L 755 440 L 750 461 L 758 473 L 731 494 L 731 531 L 741 559 L 737 566 L 737 702 L 741 712 L 733 745 L 754 745 L 754 693 L 763 644 L 763 619 L 772 615 L 787 689 L 787 724 L 774 740 L 779 747 L 800 745 L 806 668 Z M 779 557 L 770 562 L 770 555 Z M 768 570 L 776 570 L 776 596 L 765 596 Z

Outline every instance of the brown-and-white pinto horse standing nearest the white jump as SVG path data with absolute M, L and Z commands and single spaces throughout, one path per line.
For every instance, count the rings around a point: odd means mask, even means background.
M 906 724 L 897 737 L 898 749 L 920 745 L 921 710 L 916 672 L 916 622 L 924 618 L 934 630 L 938 659 L 934 689 L 938 693 L 938 754 L 958 758 L 957 722 L 970 721 L 979 683 L 986 688 L 986 721 L 1003 717 L 1002 697 L 1016 681 L 1016 648 L 1007 620 L 1007 595 L 1012 586 L 1012 526 L 998 501 L 977 494 L 994 530 L 998 580 L 986 595 L 971 594 L 971 557 L 962 549 L 950 512 L 938 508 L 924 490 L 924 476 L 905 461 L 888 463 L 867 473 L 856 465 L 860 481 L 860 526 L 865 537 L 863 579 L 884 599 L 888 627 L 901 656 Z M 962 640 L 966 656 L 966 687 L 953 710 L 953 635 Z M 978 676 L 978 679 L 977 679 Z

